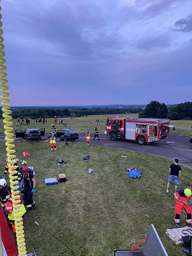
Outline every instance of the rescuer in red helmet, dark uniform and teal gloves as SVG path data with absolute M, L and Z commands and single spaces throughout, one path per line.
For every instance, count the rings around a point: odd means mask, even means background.
M 33 193 L 35 192 L 36 180 L 31 173 L 28 172 L 27 167 L 22 169 L 21 190 L 23 191 L 24 201 L 27 206 L 27 212 L 36 209 L 33 201 Z M 24 189 L 24 190 L 23 190 Z

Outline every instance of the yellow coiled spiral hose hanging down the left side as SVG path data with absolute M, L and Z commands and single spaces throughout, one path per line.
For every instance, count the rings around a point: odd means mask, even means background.
M 1 6 L 0 6 L 0 11 L 1 11 Z M 24 238 L 24 230 L 23 230 L 23 222 L 22 222 L 22 212 L 21 212 L 21 204 L 20 204 L 20 195 L 18 194 L 18 191 L 15 191 L 15 189 L 18 189 L 19 187 L 17 186 L 18 184 L 18 180 L 14 181 L 15 179 L 18 178 L 18 176 L 13 176 L 13 174 L 18 173 L 17 171 L 12 171 L 13 169 L 15 170 L 17 168 L 17 165 L 12 166 L 11 164 L 16 163 L 16 161 L 12 161 L 11 158 L 16 158 L 15 155 L 13 155 L 15 153 L 15 149 L 13 149 L 15 147 L 14 140 L 11 139 L 11 137 L 14 136 L 13 133 L 11 133 L 13 131 L 12 125 L 13 123 L 11 122 L 12 116 L 11 116 L 11 110 L 9 108 L 11 108 L 11 105 L 8 104 L 8 102 L 10 101 L 10 99 L 8 98 L 9 96 L 9 92 L 7 91 L 9 89 L 7 83 L 8 80 L 5 78 L 7 76 L 7 73 L 5 72 L 6 70 L 6 66 L 5 64 L 5 53 L 4 53 L 4 38 L 3 38 L 3 30 L 2 30 L 2 26 L 3 23 L 1 21 L 2 15 L 0 13 L 0 80 L 1 80 L 1 87 L 3 87 L 3 89 L 0 90 L 0 92 L 3 94 L 1 95 L 1 99 L 3 100 L 1 102 L 1 104 L 4 106 L 2 108 L 2 112 L 3 113 L 3 117 L 4 117 L 4 134 L 5 136 L 5 140 L 6 143 L 5 145 L 6 147 L 6 151 L 7 151 L 7 157 L 8 157 L 8 167 L 9 167 L 9 178 L 10 178 L 10 184 L 11 184 L 11 193 L 12 193 L 12 198 L 13 198 L 13 215 L 14 215 L 14 220 L 15 220 L 15 229 L 16 229 L 16 236 L 17 236 L 17 245 L 18 245 L 18 253 L 19 256 L 26 256 L 26 247 L 25 247 L 25 238 Z M 16 196 L 17 195 L 17 196 Z

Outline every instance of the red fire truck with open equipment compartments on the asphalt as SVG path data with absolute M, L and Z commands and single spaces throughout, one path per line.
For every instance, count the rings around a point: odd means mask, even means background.
M 134 140 L 140 145 L 145 145 L 169 137 L 169 119 L 153 118 L 107 118 L 105 134 L 111 140 Z

